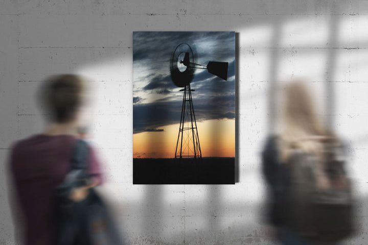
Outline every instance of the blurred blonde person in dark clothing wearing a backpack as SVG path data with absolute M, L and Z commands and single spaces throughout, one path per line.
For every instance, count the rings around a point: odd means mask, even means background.
M 340 207 L 348 207 L 346 210 L 349 212 L 345 212 L 346 220 L 343 220 L 343 215 L 340 215 L 343 212 L 336 209 L 337 215 L 322 218 L 325 220 L 320 222 L 315 221 L 323 216 L 319 213 L 319 206 L 314 203 L 318 200 L 312 200 L 318 198 L 311 197 L 317 197 L 320 189 L 329 191 L 336 185 L 342 186 L 341 191 L 338 190 L 340 192 L 337 193 L 337 197 L 340 193 L 345 196 L 347 193 L 350 194 L 350 186 L 345 179 L 342 164 L 340 166 L 340 162 L 333 162 L 333 159 L 329 159 L 332 155 L 326 155 L 327 145 L 333 145 L 333 149 L 338 148 L 342 151 L 343 146 L 335 134 L 319 122 L 313 107 L 312 96 L 304 82 L 291 82 L 287 85 L 285 92 L 286 101 L 280 135 L 269 137 L 262 152 L 263 174 L 270 187 L 268 221 L 274 226 L 275 235 L 282 244 L 338 244 L 342 240 L 339 236 L 345 238 L 351 232 L 350 227 L 344 227 L 346 224 L 351 225 L 350 197 L 346 199 L 344 205 L 340 205 Z M 323 160 L 318 162 L 314 159 Z M 331 164 L 325 164 L 325 161 Z M 308 166 L 297 166 L 303 164 Z M 332 178 L 326 174 L 325 167 L 329 164 L 334 171 Z M 299 180 L 295 173 L 299 174 Z M 305 176 L 311 178 L 311 181 L 305 181 L 309 183 L 303 183 Z M 330 208 L 335 207 L 333 205 L 334 203 Z M 337 216 L 337 219 L 334 220 L 334 217 L 331 216 Z M 334 222 L 341 224 L 341 230 L 335 228 Z M 330 233 L 318 234 L 316 230 L 319 228 Z M 305 232 L 308 229 L 310 229 L 309 234 Z

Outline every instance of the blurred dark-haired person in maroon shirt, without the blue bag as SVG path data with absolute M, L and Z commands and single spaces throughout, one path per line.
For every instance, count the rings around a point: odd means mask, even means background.
M 79 76 L 48 78 L 38 94 L 50 116 L 48 126 L 44 132 L 19 140 L 12 146 L 9 170 L 20 207 L 13 211 L 15 214 L 20 212 L 25 219 L 21 229 L 24 244 L 54 244 L 55 188 L 71 168 L 73 150 L 81 136 L 78 128 L 85 92 L 85 81 Z M 74 202 L 82 201 L 88 188 L 102 182 L 95 152 L 90 147 L 88 152 L 88 184 L 71 191 L 70 199 Z M 14 209 L 14 205 L 11 206 Z

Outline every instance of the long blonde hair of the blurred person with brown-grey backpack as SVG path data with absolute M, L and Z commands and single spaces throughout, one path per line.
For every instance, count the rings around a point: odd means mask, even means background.
M 279 137 L 281 162 L 286 162 L 292 149 L 318 154 L 323 141 L 334 136 L 318 120 L 311 94 L 304 82 L 293 81 L 286 88 L 283 129 Z

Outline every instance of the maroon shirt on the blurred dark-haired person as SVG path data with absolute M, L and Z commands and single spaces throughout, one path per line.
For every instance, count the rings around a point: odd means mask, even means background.
M 76 138 L 71 135 L 34 135 L 20 140 L 10 155 L 10 171 L 25 217 L 25 244 L 51 245 L 54 189 L 70 171 Z M 90 149 L 88 173 L 102 182 L 96 155 Z

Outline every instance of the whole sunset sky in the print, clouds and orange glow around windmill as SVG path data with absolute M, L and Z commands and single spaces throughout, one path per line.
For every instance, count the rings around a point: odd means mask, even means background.
M 227 81 L 198 69 L 191 88 L 202 157 L 234 157 L 234 32 L 133 33 L 133 157 L 175 156 L 183 92 L 171 80 L 170 60 L 182 42 L 195 63 L 229 63 Z

